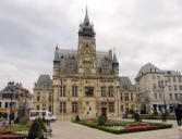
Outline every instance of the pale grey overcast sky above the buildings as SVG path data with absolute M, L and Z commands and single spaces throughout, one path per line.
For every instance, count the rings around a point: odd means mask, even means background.
M 134 83 L 150 62 L 182 70 L 182 0 L 87 0 L 97 50 L 116 50 L 120 75 Z M 33 92 L 52 74 L 56 45 L 77 49 L 86 0 L 0 0 L 0 89 L 23 83 Z

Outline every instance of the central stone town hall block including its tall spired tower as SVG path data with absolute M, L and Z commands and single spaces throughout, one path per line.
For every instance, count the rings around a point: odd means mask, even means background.
M 86 15 L 77 50 L 58 47 L 53 60 L 53 114 L 60 118 L 108 116 L 119 112 L 119 63 L 112 51 L 96 51 L 94 25 Z

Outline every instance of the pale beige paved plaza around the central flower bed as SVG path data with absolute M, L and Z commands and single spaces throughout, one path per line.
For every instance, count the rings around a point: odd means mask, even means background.
M 160 123 L 161 121 L 149 122 Z M 51 125 L 53 131 L 50 139 L 179 139 L 179 127 L 175 121 L 167 123 L 173 124 L 173 128 L 113 135 L 69 121 L 58 121 Z

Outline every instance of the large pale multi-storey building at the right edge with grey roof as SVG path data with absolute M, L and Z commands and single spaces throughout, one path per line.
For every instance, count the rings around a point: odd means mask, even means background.
M 182 103 L 182 75 L 165 71 L 151 63 L 142 66 L 136 78 L 137 106 L 141 113 L 161 112 L 167 108 L 173 112 Z

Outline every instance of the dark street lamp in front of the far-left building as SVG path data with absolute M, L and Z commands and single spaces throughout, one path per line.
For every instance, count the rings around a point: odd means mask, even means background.
M 13 100 L 13 92 L 16 89 L 16 86 L 14 85 L 14 81 L 8 83 L 8 88 L 11 90 L 11 102 L 10 102 L 10 114 L 9 114 L 9 125 L 11 125 L 11 117 L 12 117 L 12 100 Z

